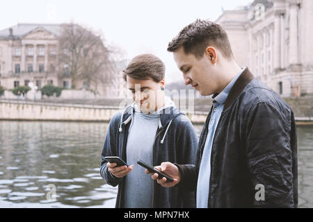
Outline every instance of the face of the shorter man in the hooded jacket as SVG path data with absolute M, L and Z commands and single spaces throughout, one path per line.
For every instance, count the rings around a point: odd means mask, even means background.
M 138 80 L 127 76 L 127 87 L 131 91 L 133 100 L 142 112 L 151 113 L 162 107 L 164 101 L 165 81 L 156 83 L 152 78 Z

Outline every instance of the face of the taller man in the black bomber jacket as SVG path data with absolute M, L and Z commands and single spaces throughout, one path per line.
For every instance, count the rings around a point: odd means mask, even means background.
M 214 51 L 214 55 L 216 53 Z M 206 52 L 198 59 L 193 54 L 186 54 L 184 48 L 180 47 L 174 52 L 174 60 L 177 67 L 182 71 L 185 85 L 191 85 L 200 92 L 202 96 L 216 93 L 218 90 L 218 75 L 215 63 Z M 214 58 L 216 61 L 216 58 Z

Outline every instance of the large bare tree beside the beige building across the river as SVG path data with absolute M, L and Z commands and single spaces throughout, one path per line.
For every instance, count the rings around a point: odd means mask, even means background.
M 71 78 L 72 87 L 84 80 L 97 91 L 99 83 L 113 83 L 115 65 L 101 35 L 78 24 L 62 24 L 58 45 L 59 76 Z

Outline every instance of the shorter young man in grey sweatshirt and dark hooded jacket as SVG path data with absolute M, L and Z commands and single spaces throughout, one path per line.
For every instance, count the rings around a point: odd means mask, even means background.
M 118 185 L 115 207 L 195 207 L 195 193 L 165 188 L 152 181 L 138 159 L 195 164 L 198 139 L 185 114 L 164 94 L 165 66 L 151 54 L 136 56 L 124 70 L 134 103 L 110 121 L 102 148 L 100 173 L 109 185 Z M 129 167 L 116 167 L 105 156 L 119 156 Z

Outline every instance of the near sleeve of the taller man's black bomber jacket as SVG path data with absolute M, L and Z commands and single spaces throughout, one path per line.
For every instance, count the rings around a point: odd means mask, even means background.
M 280 104 L 281 105 L 281 104 Z M 292 111 L 260 102 L 246 121 L 246 156 L 252 207 L 295 207 Z

